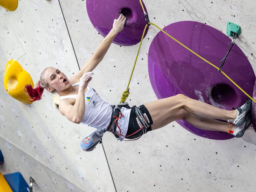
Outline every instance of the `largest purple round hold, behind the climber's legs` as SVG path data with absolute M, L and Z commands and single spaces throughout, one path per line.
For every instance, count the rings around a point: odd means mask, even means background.
M 163 30 L 218 67 L 231 43 L 230 38 L 219 30 L 195 21 L 172 23 Z M 162 32 L 155 36 L 149 47 L 148 70 L 152 88 L 158 99 L 182 93 L 226 110 L 237 108 L 248 99 L 221 72 L 217 72 L 217 69 Z M 247 57 L 236 44 L 222 70 L 252 95 L 255 75 Z M 185 120 L 177 122 L 191 133 L 209 139 L 233 137 L 224 132 L 195 128 Z

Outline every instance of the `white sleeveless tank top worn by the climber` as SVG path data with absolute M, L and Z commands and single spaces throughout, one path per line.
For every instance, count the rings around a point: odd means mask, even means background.
M 73 84 L 72 86 L 79 85 L 80 82 Z M 71 94 L 66 96 L 60 96 L 59 101 L 66 98 L 76 99 L 77 94 Z M 108 128 L 111 120 L 112 107 L 108 102 L 105 102 L 101 99 L 99 94 L 91 88 L 87 86 L 87 91 L 84 93 L 85 98 L 85 113 L 81 123 L 85 125 L 92 126 L 97 128 L 98 130 L 105 130 Z M 118 120 L 118 125 L 121 128 L 122 135 L 126 135 L 129 125 L 129 118 L 131 109 L 127 109 L 122 107 L 121 113 L 123 117 Z M 116 129 L 117 133 L 119 133 L 119 129 Z M 119 140 L 122 141 L 124 139 L 123 136 L 119 136 Z

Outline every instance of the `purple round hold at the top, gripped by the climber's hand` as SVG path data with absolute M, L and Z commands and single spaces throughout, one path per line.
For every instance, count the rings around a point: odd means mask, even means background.
M 146 21 L 139 0 L 87 0 L 86 8 L 91 23 L 103 37 L 112 29 L 114 19 L 122 13 L 127 18 L 125 26 L 113 42 L 122 46 L 140 42 Z M 148 29 L 145 36 L 147 32 Z

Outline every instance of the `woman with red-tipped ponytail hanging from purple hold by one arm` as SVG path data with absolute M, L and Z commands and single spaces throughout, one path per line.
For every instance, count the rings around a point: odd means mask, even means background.
M 122 14 L 114 20 L 113 28 L 94 54 L 70 79 L 59 69 L 44 69 L 35 88 L 31 85 L 25 87 L 31 101 L 40 100 L 44 89 L 58 93 L 59 111 L 67 119 L 98 130 L 111 131 L 120 141 L 124 138 L 136 139 L 178 119 L 184 119 L 203 130 L 223 131 L 235 137 L 244 134 L 251 123 L 251 100 L 236 110 L 223 110 L 183 94 L 151 101 L 139 107 L 113 106 L 103 101 L 96 90 L 88 86 L 93 75 L 91 71 L 102 61 L 115 36 L 123 29 L 125 21 Z

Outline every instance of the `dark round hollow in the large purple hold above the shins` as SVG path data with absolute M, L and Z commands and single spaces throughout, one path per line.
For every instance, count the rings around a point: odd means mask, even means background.
M 228 84 L 217 84 L 211 91 L 213 101 L 224 107 L 235 107 L 238 96 L 236 91 Z

